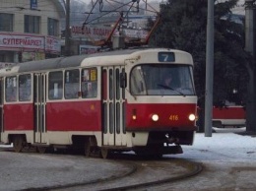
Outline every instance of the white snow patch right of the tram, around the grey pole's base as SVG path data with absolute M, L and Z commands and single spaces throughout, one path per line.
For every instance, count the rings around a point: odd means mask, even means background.
M 182 158 L 200 161 L 256 160 L 256 137 L 239 134 L 245 132 L 245 127 L 213 129 L 216 132 L 212 133 L 212 137 L 205 137 L 204 133 L 196 133 L 194 144 L 182 147 L 184 152 Z

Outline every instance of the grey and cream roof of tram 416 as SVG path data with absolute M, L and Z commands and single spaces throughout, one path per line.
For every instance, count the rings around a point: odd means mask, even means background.
M 50 58 L 45 60 L 36 60 L 24 62 L 13 66 L 9 69 L 9 74 L 12 73 L 26 73 L 32 71 L 47 71 L 61 68 L 72 68 L 79 66 L 98 66 L 98 65 L 120 65 L 124 63 L 125 59 L 134 58 L 133 53 L 147 52 L 147 51 L 164 51 L 171 50 L 166 48 L 144 48 L 144 49 L 123 49 L 115 51 L 98 52 L 95 54 L 74 55 L 69 57 Z M 180 50 L 171 50 L 175 52 L 183 52 Z M 137 53 L 136 53 L 137 54 Z M 113 56 L 115 56 L 113 58 Z M 103 57 L 103 59 L 102 59 Z M 7 70 L 6 70 L 7 71 Z M 3 72 L 0 72 L 0 75 Z

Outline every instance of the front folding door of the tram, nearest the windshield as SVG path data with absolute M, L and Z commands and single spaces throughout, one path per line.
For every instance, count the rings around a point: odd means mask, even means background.
M 124 66 L 104 67 L 102 70 L 103 146 L 126 146 L 125 90 L 120 88 L 122 71 Z

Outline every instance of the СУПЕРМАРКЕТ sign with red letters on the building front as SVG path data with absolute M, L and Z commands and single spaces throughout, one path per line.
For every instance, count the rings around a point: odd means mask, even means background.
M 60 39 L 52 36 L 0 32 L 0 48 L 60 52 Z

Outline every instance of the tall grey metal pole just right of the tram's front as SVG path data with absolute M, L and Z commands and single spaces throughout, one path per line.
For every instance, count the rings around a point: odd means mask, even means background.
M 206 46 L 205 137 L 212 137 L 214 77 L 214 0 L 208 0 Z

